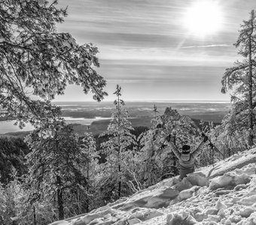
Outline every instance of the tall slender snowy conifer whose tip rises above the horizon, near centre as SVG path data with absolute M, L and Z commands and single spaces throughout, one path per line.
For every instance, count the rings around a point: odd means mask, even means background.
M 131 122 L 127 119 L 129 114 L 124 108 L 124 101 L 120 99 L 121 88 L 117 85 L 114 95 L 116 107 L 108 129 L 101 136 L 107 135 L 107 141 L 102 142 L 102 153 L 106 155 L 106 162 L 103 165 L 102 184 L 107 186 L 105 191 L 109 195 L 108 200 L 120 198 L 128 192 L 127 175 L 128 169 L 132 166 L 133 152 L 132 145 L 135 145 L 135 136 L 130 133 L 133 130 Z M 126 193 L 125 193 L 126 192 Z

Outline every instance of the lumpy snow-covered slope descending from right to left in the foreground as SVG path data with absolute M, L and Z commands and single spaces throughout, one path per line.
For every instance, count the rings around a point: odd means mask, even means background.
M 256 225 L 256 148 L 51 224 Z

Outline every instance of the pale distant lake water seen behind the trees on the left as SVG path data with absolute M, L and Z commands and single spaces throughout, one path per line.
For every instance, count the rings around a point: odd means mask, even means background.
M 95 117 L 95 118 L 72 118 L 72 117 L 63 117 L 65 118 L 68 124 L 84 124 L 90 125 L 93 121 L 99 121 L 103 119 L 109 119 L 105 117 Z M 11 133 L 11 132 L 18 132 L 18 131 L 30 131 L 34 130 L 31 124 L 26 124 L 26 127 L 20 129 L 19 126 L 14 125 L 15 120 L 8 120 L 8 121 L 0 121 L 0 134 L 2 133 Z

